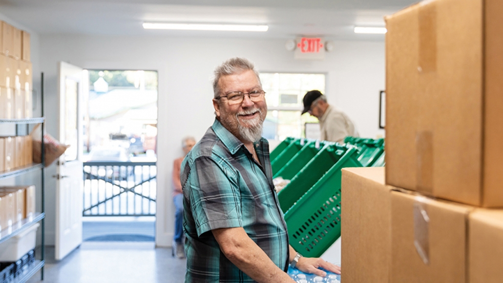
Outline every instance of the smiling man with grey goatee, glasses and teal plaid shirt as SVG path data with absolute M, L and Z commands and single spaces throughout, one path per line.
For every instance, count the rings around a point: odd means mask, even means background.
M 294 282 L 304 272 L 340 273 L 288 244 L 272 180 L 269 144 L 262 138 L 265 92 L 254 65 L 232 58 L 215 69 L 216 119 L 182 168 L 186 282 Z

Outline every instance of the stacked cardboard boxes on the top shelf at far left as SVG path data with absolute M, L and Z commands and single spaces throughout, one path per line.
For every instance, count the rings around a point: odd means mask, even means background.
M 32 117 L 30 34 L 0 21 L 0 119 Z

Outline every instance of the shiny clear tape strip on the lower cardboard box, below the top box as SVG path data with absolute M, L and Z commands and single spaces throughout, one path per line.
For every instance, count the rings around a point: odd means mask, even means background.
M 426 197 L 417 196 L 413 205 L 414 246 L 417 254 L 426 265 L 430 264 L 430 237 L 428 234 L 430 217 L 428 217 L 427 201 Z

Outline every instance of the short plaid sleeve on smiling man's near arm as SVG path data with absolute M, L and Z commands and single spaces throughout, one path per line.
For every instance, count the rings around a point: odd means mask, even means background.
M 222 161 L 197 158 L 185 189 L 198 237 L 218 228 L 242 227 L 237 174 Z

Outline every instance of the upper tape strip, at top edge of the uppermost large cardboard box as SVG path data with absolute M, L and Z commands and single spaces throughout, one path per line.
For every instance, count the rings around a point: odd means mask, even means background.
M 417 70 L 420 73 L 437 70 L 437 5 L 428 2 L 421 5 L 418 13 L 419 56 Z

